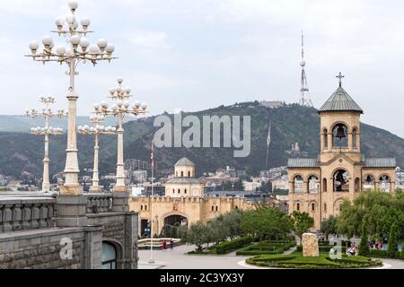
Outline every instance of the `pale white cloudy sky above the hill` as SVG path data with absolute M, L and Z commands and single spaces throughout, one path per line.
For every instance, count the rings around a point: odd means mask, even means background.
M 66 3 L 0 5 L 0 114 L 35 107 L 42 94 L 66 106 L 65 67 L 23 57 L 32 39 L 55 29 Z M 152 114 L 245 100 L 295 102 L 304 30 L 314 106 L 337 88 L 341 71 L 363 121 L 404 137 L 403 13 L 400 0 L 82 0 L 77 15 L 90 17 L 96 30 L 89 38 L 113 42 L 119 60 L 80 67 L 78 113 L 88 114 L 117 75 Z

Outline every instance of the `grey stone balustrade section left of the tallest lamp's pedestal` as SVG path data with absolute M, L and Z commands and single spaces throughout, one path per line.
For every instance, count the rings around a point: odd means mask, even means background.
M 0 196 L 0 233 L 55 226 L 53 196 Z

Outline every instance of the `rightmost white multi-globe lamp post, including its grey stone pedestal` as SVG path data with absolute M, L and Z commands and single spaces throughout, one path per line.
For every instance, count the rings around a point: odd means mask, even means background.
M 94 104 L 94 114 L 103 115 L 103 116 L 114 116 L 118 119 L 118 156 L 117 156 L 117 174 L 116 174 L 116 184 L 114 187 L 114 195 L 122 198 L 127 197 L 127 187 L 125 186 L 125 172 L 124 172 L 124 161 L 123 161 L 123 119 L 127 115 L 135 115 L 138 116 L 140 114 L 147 113 L 146 104 L 140 104 L 136 102 L 132 107 L 129 104 L 130 89 L 123 88 L 123 78 L 118 77 L 117 79 L 118 86 L 116 88 L 110 89 L 110 99 L 116 101 L 110 109 L 109 105 L 105 100 L 102 100 L 101 103 Z M 120 195 L 119 195 L 120 194 Z M 116 204 L 119 204 L 119 201 L 116 201 Z M 125 203 L 125 200 L 122 201 L 119 205 L 115 207 L 116 211 L 127 211 L 128 206 Z

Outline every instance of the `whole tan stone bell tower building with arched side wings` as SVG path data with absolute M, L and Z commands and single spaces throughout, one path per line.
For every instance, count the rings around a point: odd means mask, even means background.
M 361 153 L 360 116 L 364 111 L 339 86 L 319 109 L 321 150 L 317 158 L 294 158 L 287 163 L 289 212 L 310 213 L 313 228 L 338 215 L 344 199 L 361 192 L 394 192 L 396 161 L 365 158 Z

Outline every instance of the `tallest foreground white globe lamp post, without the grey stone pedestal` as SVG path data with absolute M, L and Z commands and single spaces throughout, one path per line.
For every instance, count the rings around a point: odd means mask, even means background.
M 41 51 L 39 51 L 40 44 L 37 41 L 30 43 L 31 55 L 27 55 L 27 57 L 32 57 L 34 61 L 42 62 L 43 64 L 56 62 L 60 65 L 65 63 L 68 66 L 66 75 L 70 78 L 70 85 L 66 96 L 68 100 L 66 181 L 61 189 L 61 195 L 80 195 L 82 190 L 80 190 L 78 182 L 80 170 L 76 143 L 76 101 L 78 99 L 75 93 L 75 76 L 78 74 L 76 67 L 79 63 L 90 62 L 96 65 L 100 61 L 110 62 L 115 57 L 112 57 L 114 45 L 108 43 L 105 39 L 99 39 L 97 45 L 90 45 L 90 41 L 86 38 L 87 33 L 92 32 L 88 30 L 90 19 L 82 18 L 79 25 L 79 21 L 75 16 L 78 6 L 77 1 L 70 1 L 68 5 L 70 13 L 66 17 L 57 18 L 57 30 L 52 31 L 59 36 L 66 37 L 68 48 L 60 46 L 54 49 L 53 39 L 46 36 L 42 39 L 43 49 Z

